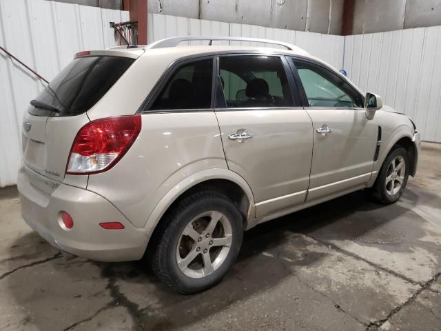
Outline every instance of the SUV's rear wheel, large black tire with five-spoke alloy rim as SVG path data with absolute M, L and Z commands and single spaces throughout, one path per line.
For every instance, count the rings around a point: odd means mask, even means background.
M 161 225 L 153 271 L 182 294 L 216 285 L 236 261 L 242 244 L 240 212 L 223 194 L 210 190 L 178 201 Z

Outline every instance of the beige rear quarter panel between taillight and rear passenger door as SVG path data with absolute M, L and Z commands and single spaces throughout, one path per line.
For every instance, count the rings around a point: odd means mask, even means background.
M 136 228 L 143 228 L 165 194 L 187 177 L 227 168 L 214 112 L 141 116 L 141 132 L 127 154 L 88 182 L 88 190 L 113 203 Z

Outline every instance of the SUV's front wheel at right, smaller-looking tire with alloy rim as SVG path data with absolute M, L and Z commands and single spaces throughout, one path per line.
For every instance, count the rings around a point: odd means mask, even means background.
M 384 160 L 376 182 L 370 190 L 371 197 L 380 203 L 389 205 L 400 199 L 409 179 L 409 157 L 407 150 L 396 147 Z

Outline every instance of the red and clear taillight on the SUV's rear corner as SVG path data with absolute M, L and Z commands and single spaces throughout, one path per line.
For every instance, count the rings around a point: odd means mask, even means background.
M 94 174 L 112 168 L 141 131 L 141 115 L 92 121 L 76 134 L 66 174 Z

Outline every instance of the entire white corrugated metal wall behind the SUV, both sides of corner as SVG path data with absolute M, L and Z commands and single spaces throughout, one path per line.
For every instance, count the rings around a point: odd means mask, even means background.
M 0 45 L 52 79 L 75 52 L 114 46 L 110 21 L 128 12 L 43 0 L 0 1 Z M 345 68 L 362 90 L 416 119 L 426 141 L 441 142 L 441 27 L 350 37 L 148 14 L 150 42 L 176 35 L 258 37 L 294 43 Z M 42 83 L 0 52 L 0 187 L 16 182 L 21 117 Z

